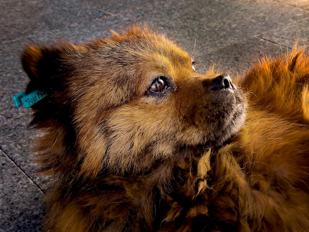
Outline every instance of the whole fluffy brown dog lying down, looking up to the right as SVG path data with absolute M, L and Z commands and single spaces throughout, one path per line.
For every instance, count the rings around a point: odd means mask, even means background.
M 48 92 L 32 121 L 54 178 L 45 231 L 309 231 L 304 50 L 260 61 L 238 87 L 139 27 L 29 46 L 22 63 L 27 92 Z

